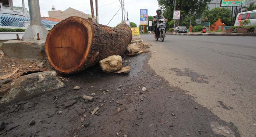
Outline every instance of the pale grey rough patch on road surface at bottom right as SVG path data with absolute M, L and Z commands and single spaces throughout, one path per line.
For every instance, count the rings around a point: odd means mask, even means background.
M 214 133 L 224 136 L 224 137 L 235 137 L 234 131 L 232 131 L 228 126 L 220 125 L 218 122 L 211 122 L 211 130 Z

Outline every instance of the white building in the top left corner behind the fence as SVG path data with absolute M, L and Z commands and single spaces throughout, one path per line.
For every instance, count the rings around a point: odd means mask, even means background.
M 21 0 L 22 7 L 15 7 L 13 0 L 0 0 L 0 14 L 19 17 L 29 17 L 28 9 L 25 8 L 24 0 Z

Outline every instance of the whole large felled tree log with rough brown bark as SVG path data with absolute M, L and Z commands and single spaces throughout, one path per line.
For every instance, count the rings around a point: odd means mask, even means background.
M 69 17 L 48 33 L 45 52 L 58 72 L 70 74 L 111 55 L 123 55 L 131 40 L 131 28 L 124 22 L 111 28 L 88 19 Z

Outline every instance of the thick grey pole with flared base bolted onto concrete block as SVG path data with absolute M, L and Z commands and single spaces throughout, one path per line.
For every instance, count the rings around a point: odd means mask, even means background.
M 23 40 L 36 40 L 39 38 L 42 40 L 46 39 L 48 30 L 42 25 L 39 0 L 28 0 L 30 25 L 22 36 Z

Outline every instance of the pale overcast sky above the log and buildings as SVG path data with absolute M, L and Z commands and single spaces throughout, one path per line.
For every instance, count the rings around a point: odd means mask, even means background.
M 121 1 L 121 0 L 120 0 Z M 91 14 L 89 0 L 39 0 L 40 11 L 42 17 L 49 17 L 48 12 L 51 6 L 54 5 L 56 10 L 66 10 L 68 7 L 82 11 L 86 14 Z M 99 3 L 99 23 L 107 25 L 110 19 L 115 15 L 121 7 L 119 0 L 98 0 Z M 110 4 L 112 3 L 112 4 Z M 95 0 L 93 0 L 95 8 Z M 106 5 L 109 4 L 109 5 Z M 14 6 L 22 7 L 21 0 L 13 0 Z M 28 8 L 28 1 L 25 0 L 25 7 Z M 106 6 L 104 6 L 106 5 Z M 102 6 L 102 7 L 101 7 Z M 128 19 L 131 22 L 139 25 L 139 10 L 147 8 L 149 15 L 155 15 L 157 8 L 159 8 L 157 0 L 124 0 L 125 11 L 128 11 Z M 126 16 L 126 15 L 125 15 Z M 116 26 L 122 21 L 121 9 L 117 15 L 110 22 L 109 26 Z

